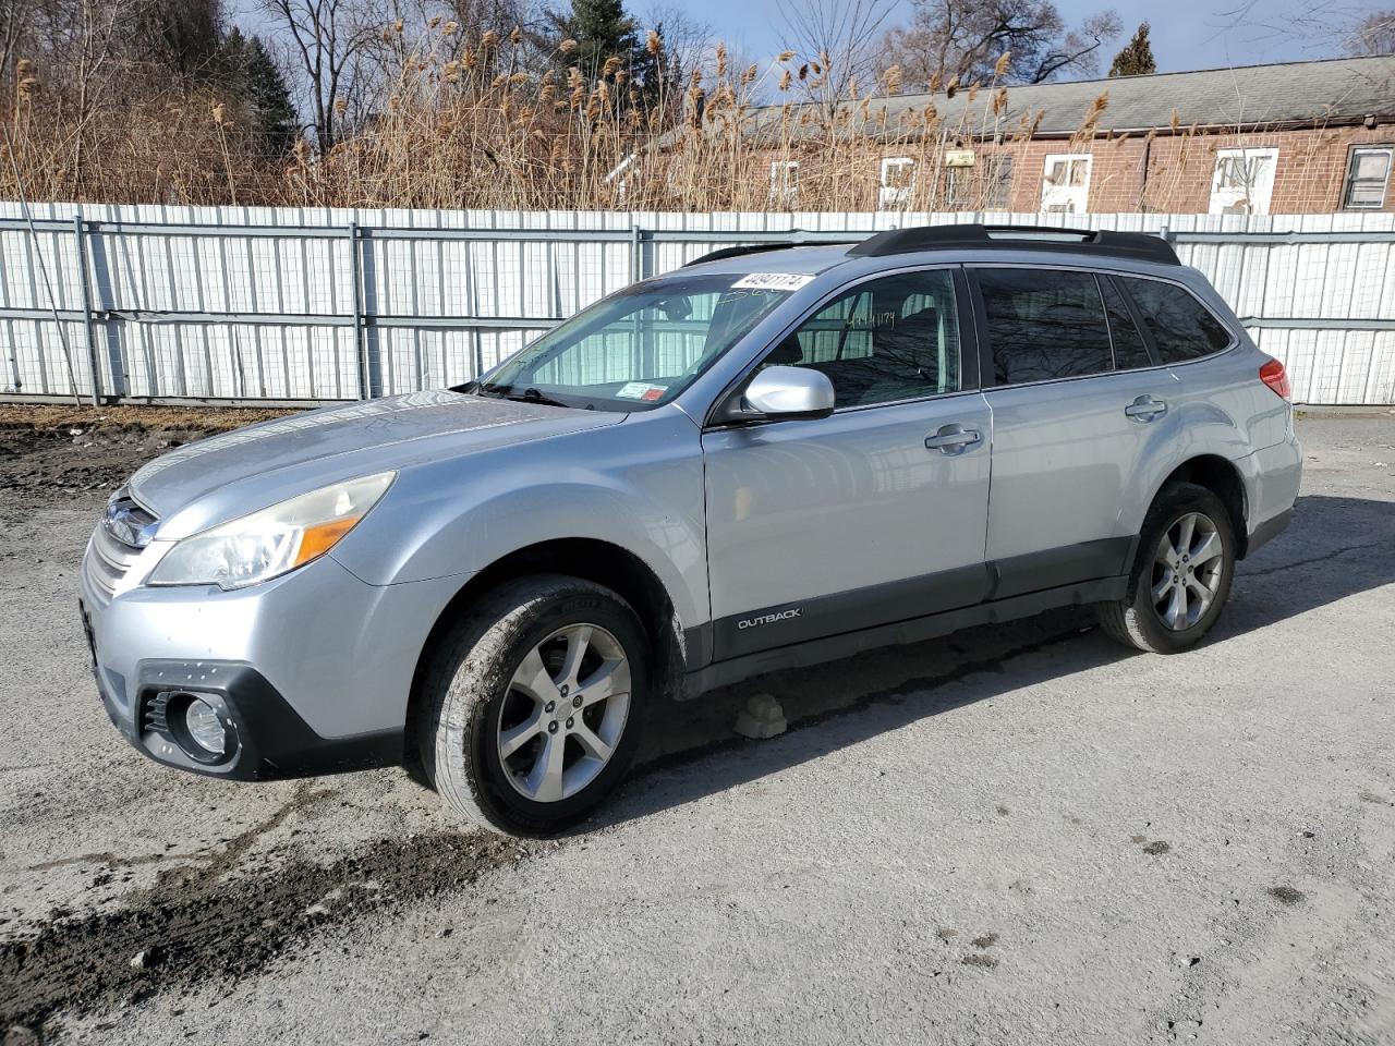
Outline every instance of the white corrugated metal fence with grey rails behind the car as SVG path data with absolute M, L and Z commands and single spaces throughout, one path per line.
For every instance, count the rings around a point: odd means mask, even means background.
M 0 202 L 0 397 L 324 402 L 466 381 L 716 247 L 956 220 L 1154 232 L 1304 403 L 1395 403 L 1395 215 L 594 213 Z M 52 298 L 50 298 L 52 296 Z M 64 338 L 68 351 L 64 351 Z

